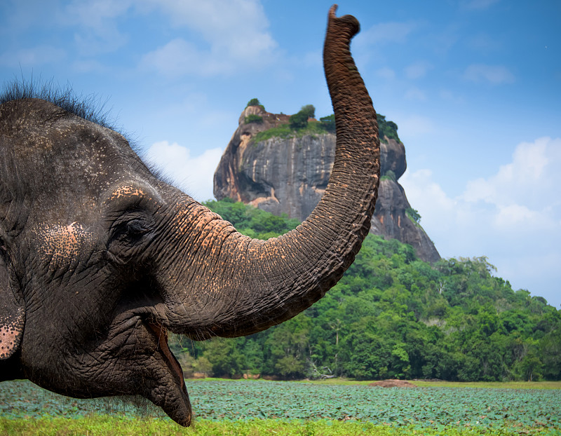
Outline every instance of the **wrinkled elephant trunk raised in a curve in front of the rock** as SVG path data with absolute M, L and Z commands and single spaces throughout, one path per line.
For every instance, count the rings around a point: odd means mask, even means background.
M 166 299 L 171 303 L 170 327 L 203 339 L 252 334 L 276 325 L 323 297 L 360 250 L 377 198 L 378 128 L 372 100 L 349 51 L 358 21 L 349 15 L 336 18 L 335 9 L 328 17 L 323 58 L 337 149 L 323 198 L 297 229 L 267 241 L 242 236 L 201 206 L 189 205 L 189 216 L 197 215 L 202 236 L 184 236 L 195 261 L 189 271 L 177 272 L 183 289 L 179 294 L 188 301 L 173 304 Z M 198 265 L 196 271 L 193 265 Z

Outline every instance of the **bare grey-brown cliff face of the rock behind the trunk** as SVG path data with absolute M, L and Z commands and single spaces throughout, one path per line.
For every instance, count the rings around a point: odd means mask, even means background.
M 262 122 L 246 123 L 250 115 L 261 116 Z M 269 114 L 257 106 L 245 108 L 215 172 L 214 193 L 218 200 L 229 197 L 301 220 L 316 207 L 329 181 L 335 135 L 325 132 L 252 141 L 258 132 L 283 123 L 288 123 L 287 115 Z M 440 255 L 432 241 L 407 216 L 410 204 L 397 182 L 407 168 L 405 147 L 387 137 L 380 146 L 381 175 L 386 177 L 380 181 L 370 232 L 410 244 L 421 259 L 437 261 Z

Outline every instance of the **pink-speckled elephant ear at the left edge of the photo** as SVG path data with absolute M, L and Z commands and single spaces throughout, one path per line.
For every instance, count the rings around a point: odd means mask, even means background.
M 0 256 L 0 360 L 8 359 L 20 346 L 25 325 L 25 311 L 16 299 L 8 268 Z

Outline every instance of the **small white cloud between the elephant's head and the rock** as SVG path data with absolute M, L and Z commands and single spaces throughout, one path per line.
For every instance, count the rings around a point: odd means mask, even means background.
M 163 174 L 171 177 L 175 186 L 199 201 L 214 198 L 212 176 L 222 157 L 222 149 L 208 149 L 200 156 L 191 156 L 191 151 L 177 142 L 155 142 L 144 158 L 156 165 Z

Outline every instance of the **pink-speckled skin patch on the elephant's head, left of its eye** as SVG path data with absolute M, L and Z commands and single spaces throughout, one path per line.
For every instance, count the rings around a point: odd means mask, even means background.
M 67 225 L 43 224 L 35 233 L 39 241 L 39 257 L 48 263 L 49 268 L 69 266 L 77 259 L 79 252 L 91 247 L 95 240 L 94 233 L 86 231 L 77 222 Z

